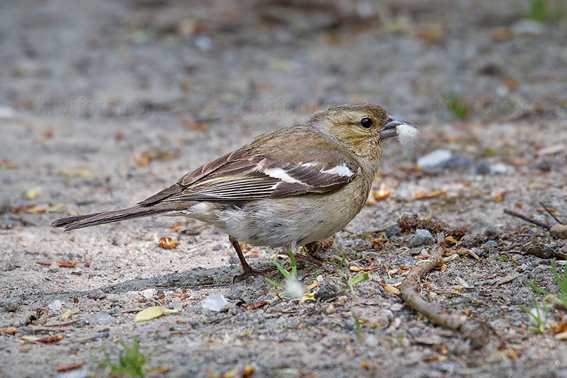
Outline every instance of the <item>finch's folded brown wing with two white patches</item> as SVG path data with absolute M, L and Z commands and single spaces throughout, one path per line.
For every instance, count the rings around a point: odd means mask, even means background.
M 356 160 L 339 150 L 307 150 L 308 162 L 293 156 L 283 161 L 253 155 L 241 148 L 181 177 L 140 205 L 159 201 L 249 201 L 328 193 L 352 182 L 359 174 Z

